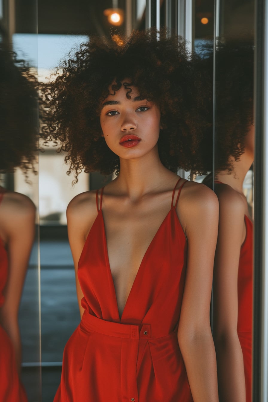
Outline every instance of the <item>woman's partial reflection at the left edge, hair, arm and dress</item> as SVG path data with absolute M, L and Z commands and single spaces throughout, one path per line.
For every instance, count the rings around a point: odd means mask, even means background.
M 33 170 L 36 150 L 34 77 L 0 48 L 0 173 Z M 3 183 L 2 183 L 3 184 Z M 35 205 L 0 182 L 0 402 L 26 402 L 20 383 L 18 309 L 35 236 Z

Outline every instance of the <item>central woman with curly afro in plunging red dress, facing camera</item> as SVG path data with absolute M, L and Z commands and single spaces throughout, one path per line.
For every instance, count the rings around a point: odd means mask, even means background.
M 76 178 L 82 168 L 116 172 L 67 209 L 82 319 L 55 402 L 218 400 L 209 322 L 218 201 L 176 174 L 194 170 L 203 127 L 187 57 L 182 39 L 154 30 L 90 38 L 47 88 L 47 139 L 68 152 Z

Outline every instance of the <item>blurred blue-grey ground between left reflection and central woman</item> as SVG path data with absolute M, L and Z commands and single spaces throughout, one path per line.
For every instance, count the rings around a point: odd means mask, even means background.
M 35 264 L 37 257 L 33 255 L 20 306 L 19 321 L 23 345 L 22 381 L 25 384 L 29 402 L 41 402 L 41 394 L 42 402 L 52 402 L 60 381 L 63 349 L 79 324 L 80 315 L 68 242 L 41 242 L 40 257 L 40 327 L 39 271 Z

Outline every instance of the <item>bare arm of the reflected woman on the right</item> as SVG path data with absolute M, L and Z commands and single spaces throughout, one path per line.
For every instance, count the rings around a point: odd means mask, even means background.
M 219 232 L 213 280 L 213 328 L 219 400 L 245 402 L 243 354 L 237 335 L 237 276 L 243 235 L 244 204 L 229 186 L 219 186 Z

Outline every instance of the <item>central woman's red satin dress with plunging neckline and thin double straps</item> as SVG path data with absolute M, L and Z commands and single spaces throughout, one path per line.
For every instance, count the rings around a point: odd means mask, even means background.
M 176 213 L 182 186 L 173 206 L 175 187 L 171 209 L 145 252 L 121 319 L 108 261 L 103 189 L 100 209 L 97 191 L 98 215 L 78 263 L 85 312 L 65 346 L 54 402 L 192 402 L 177 339 L 187 252 Z

